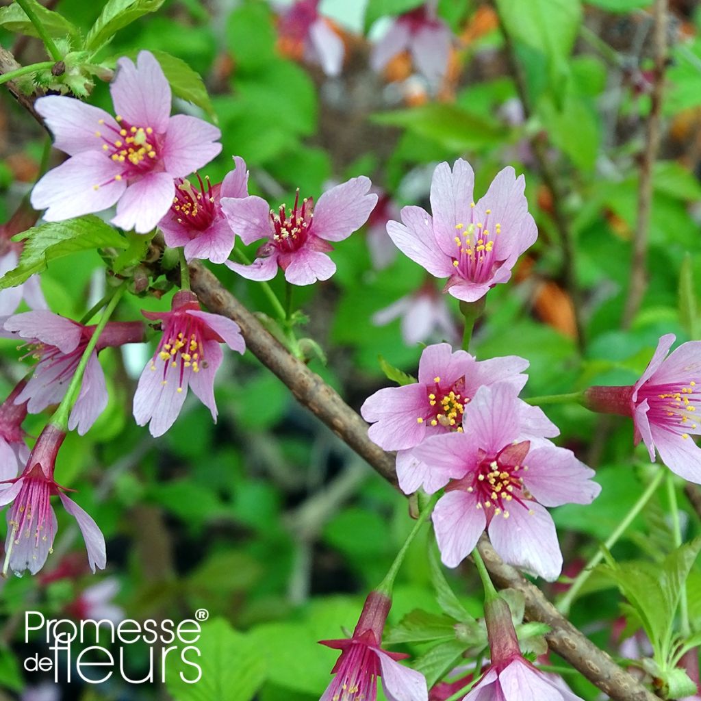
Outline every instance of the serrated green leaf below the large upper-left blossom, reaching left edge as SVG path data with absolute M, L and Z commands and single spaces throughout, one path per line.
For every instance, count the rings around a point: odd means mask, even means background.
M 0 290 L 23 283 L 30 275 L 46 270 L 49 261 L 93 248 L 126 248 L 128 241 L 95 215 L 46 222 L 13 238 L 26 238 L 18 266 L 0 278 Z

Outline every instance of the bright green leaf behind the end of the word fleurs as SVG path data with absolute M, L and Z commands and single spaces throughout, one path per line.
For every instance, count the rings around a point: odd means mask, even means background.
M 250 701 L 266 677 L 266 658 L 249 636 L 236 632 L 223 618 L 200 624 L 202 635 L 194 646 L 200 651 L 182 651 L 168 658 L 165 685 L 175 701 Z M 196 683 L 196 664 L 202 676 Z M 182 676 L 181 676 L 182 674 Z

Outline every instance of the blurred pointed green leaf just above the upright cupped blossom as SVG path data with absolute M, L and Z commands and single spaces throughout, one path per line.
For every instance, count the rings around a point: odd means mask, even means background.
M 496 121 L 444 102 L 380 112 L 373 114 L 371 119 L 376 124 L 404 127 L 412 134 L 432 139 L 454 151 L 494 146 L 506 135 L 505 128 Z

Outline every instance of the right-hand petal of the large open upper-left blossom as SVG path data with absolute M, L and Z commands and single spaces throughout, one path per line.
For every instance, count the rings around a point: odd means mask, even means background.
M 163 144 L 165 170 L 173 177 L 185 177 L 219 156 L 222 132 L 203 119 L 176 114 L 168 122 Z

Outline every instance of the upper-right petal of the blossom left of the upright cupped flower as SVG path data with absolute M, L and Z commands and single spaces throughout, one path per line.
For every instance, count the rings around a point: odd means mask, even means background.
M 323 193 L 314 207 L 315 236 L 342 241 L 360 229 L 377 204 L 377 195 L 369 191 L 371 186 L 370 179 L 361 175 Z

